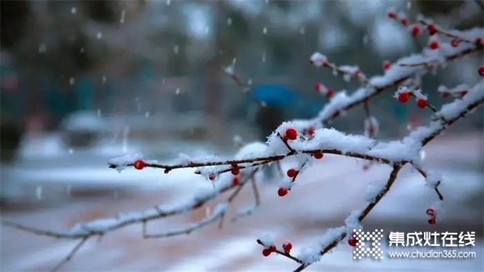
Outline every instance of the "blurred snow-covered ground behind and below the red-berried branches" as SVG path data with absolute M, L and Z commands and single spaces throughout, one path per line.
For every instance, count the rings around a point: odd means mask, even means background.
M 286 162 L 283 168 L 288 168 L 290 164 L 290 161 Z M 64 266 L 64 270 L 290 271 L 297 266 L 294 262 L 276 255 L 268 258 L 261 255 L 261 246 L 255 242 L 257 237 L 271 233 L 277 244 L 290 240 L 296 254 L 301 247 L 314 245 L 315 238 L 322 235 L 324 229 L 342 225 L 351 211 L 364 206 L 366 202 L 362 188 L 366 184 L 385 179 L 390 172 L 388 166 L 374 166 L 366 172 L 361 170 L 361 166 L 355 159 L 327 155 L 298 177 L 297 186 L 286 197 L 277 196 L 276 184 L 261 184 L 262 206 L 251 217 L 234 223 L 227 221 L 223 229 L 217 229 L 214 224 L 187 236 L 160 240 L 143 240 L 141 227 L 129 226 L 106 235 L 100 241 L 87 242 L 75 258 Z M 483 271 L 482 166 L 482 135 L 454 135 L 436 139 L 426 148 L 426 168 L 440 171 L 445 180 L 441 186 L 445 196 L 445 213 L 438 218 L 438 224 L 429 226 L 425 215 L 427 206 L 437 200 L 436 194 L 425 187 L 422 177 L 413 173 L 409 166 L 404 168 L 392 190 L 364 222 L 366 230 L 384 229 L 387 235 L 390 231 L 476 231 L 476 246 L 465 248 L 465 251 L 476 251 L 476 258 L 353 262 L 352 248 L 344 242 L 331 254 L 325 255 L 321 262 L 310 266 L 308 271 Z M 30 202 L 28 206 L 3 206 L 2 218 L 41 229 L 68 229 L 80 220 L 175 202 L 180 196 L 193 193 L 200 187 L 211 186 L 203 179 L 194 178 L 189 171 L 173 171 L 169 175 L 151 170 L 118 174 L 114 170 L 103 169 L 97 171 L 97 168 L 93 170 L 86 166 L 72 170 L 77 171 L 74 177 L 91 177 L 91 183 L 106 179 L 118 184 L 104 186 L 109 193 L 96 195 L 91 190 L 87 195 L 75 194 L 76 190 L 71 188 L 71 197 L 62 202 L 51 202 L 48 200 L 66 195 L 66 183 L 45 188 L 42 185 L 44 197 L 33 202 L 37 204 Z M 25 172 L 26 169 L 17 171 Z M 34 170 L 27 176 L 37 176 L 36 180 L 41 184 L 51 179 L 62 179 L 55 173 L 50 176 L 35 175 Z M 121 188 L 119 184 L 129 185 L 121 186 L 124 193 L 115 193 Z M 82 191 L 81 187 L 77 188 L 77 192 Z M 32 191 L 32 197 L 37 197 L 37 193 L 37 189 Z M 231 213 L 252 204 L 252 201 L 250 189 L 245 188 L 234 206 L 231 206 Z M 212 203 L 171 220 L 152 222 L 148 230 L 167 231 L 180 224 L 200 220 L 215 205 Z M 4 226 L 1 227 L 0 243 L 2 271 L 51 269 L 75 245 L 73 241 L 38 237 Z

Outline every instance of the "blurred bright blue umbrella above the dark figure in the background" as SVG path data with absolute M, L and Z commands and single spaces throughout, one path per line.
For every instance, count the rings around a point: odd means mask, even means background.
M 299 94 L 281 84 L 259 85 L 252 89 L 254 97 L 268 106 L 288 106 L 296 104 Z

